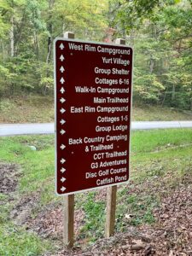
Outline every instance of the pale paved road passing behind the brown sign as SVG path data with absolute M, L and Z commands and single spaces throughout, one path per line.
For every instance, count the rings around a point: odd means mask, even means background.
M 192 121 L 144 121 L 132 122 L 131 130 L 168 129 L 168 128 L 191 128 Z M 48 124 L 11 124 L 0 125 L 0 137 L 26 134 L 53 134 L 54 123 Z

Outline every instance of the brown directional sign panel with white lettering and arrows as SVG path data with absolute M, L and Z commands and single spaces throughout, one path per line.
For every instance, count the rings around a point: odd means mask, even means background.
M 55 39 L 56 193 L 129 178 L 132 49 Z

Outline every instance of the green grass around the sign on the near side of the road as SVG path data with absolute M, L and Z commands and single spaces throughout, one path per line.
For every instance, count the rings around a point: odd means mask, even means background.
M 117 231 L 126 230 L 129 225 L 155 224 L 153 211 L 159 206 L 162 193 L 170 193 L 183 177 L 192 175 L 191 143 L 190 129 L 131 133 L 131 182 L 118 189 Z M 30 145 L 37 150 L 32 151 Z M 0 162 L 20 165 L 15 197 L 38 193 L 36 211 L 62 201 L 55 195 L 53 145 L 53 136 L 0 138 Z M 96 200 L 100 191 L 76 195 L 76 209 L 84 211 L 84 227 L 78 239 L 96 241 L 104 235 L 106 203 L 105 197 Z M 0 255 L 40 255 L 54 247 L 52 241 L 44 241 L 11 222 L 9 212 L 15 201 L 10 203 L 3 194 L 0 194 L 0 201 L 3 202 L 0 203 Z M 127 215 L 131 218 L 126 218 Z

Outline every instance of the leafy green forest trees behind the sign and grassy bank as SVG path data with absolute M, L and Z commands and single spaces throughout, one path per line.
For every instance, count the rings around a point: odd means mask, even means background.
M 133 101 L 192 110 L 191 0 L 0 0 L 0 101 L 53 96 L 53 40 L 135 50 Z

